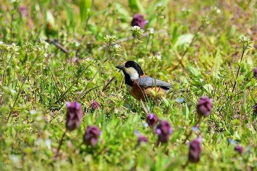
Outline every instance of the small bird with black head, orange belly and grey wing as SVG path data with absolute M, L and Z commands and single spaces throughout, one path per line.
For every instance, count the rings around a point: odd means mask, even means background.
M 170 83 L 144 74 L 140 65 L 135 61 L 126 61 L 124 65 L 116 66 L 116 68 L 122 70 L 126 88 L 137 100 L 146 102 L 147 98 L 153 99 L 153 92 L 157 93 L 157 97 L 162 97 L 172 89 Z

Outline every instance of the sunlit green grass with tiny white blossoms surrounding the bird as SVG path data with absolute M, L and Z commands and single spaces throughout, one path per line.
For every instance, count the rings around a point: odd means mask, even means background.
M 4 0 L 0 169 L 255 170 L 256 5 Z M 130 26 L 135 13 L 149 20 L 137 40 Z M 106 35 L 116 38 L 108 41 Z M 172 93 L 144 109 L 114 67 L 126 60 L 138 61 L 148 75 L 172 83 Z M 183 141 L 197 122 L 202 96 L 212 98 L 214 107 L 189 137 L 202 138 L 201 160 L 186 165 L 188 144 Z M 92 100 L 100 104 L 97 110 L 91 108 Z M 66 129 L 66 102 L 71 101 L 82 105 L 84 117 L 78 129 L 66 133 L 55 158 Z M 145 110 L 169 121 L 173 134 L 168 143 L 156 145 L 153 129 L 145 126 Z M 89 125 L 102 131 L 95 147 L 83 144 Z M 147 143 L 137 146 L 136 130 L 148 137 Z M 234 150 L 236 144 L 243 154 Z

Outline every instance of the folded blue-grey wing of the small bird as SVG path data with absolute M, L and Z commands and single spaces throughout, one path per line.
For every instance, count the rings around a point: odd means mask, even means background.
M 159 79 L 156 79 L 156 81 L 155 81 L 154 78 L 149 77 L 149 76 L 139 78 L 139 79 L 137 79 L 137 82 L 142 87 L 155 87 L 155 84 L 156 84 L 156 86 L 161 87 L 166 90 L 170 90 L 172 88 L 172 85 L 170 83 L 161 81 Z

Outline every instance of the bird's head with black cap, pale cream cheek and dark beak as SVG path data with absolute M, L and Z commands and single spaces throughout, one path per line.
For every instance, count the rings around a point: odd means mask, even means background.
M 144 75 L 140 65 L 132 60 L 126 61 L 124 65 L 118 65 L 116 68 L 121 69 L 125 77 L 129 76 L 131 80 L 136 80 Z

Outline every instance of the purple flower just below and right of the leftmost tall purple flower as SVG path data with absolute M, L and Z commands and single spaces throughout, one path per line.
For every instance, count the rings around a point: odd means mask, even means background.
M 96 126 L 88 126 L 84 135 L 84 143 L 94 147 L 98 143 L 100 130 Z

